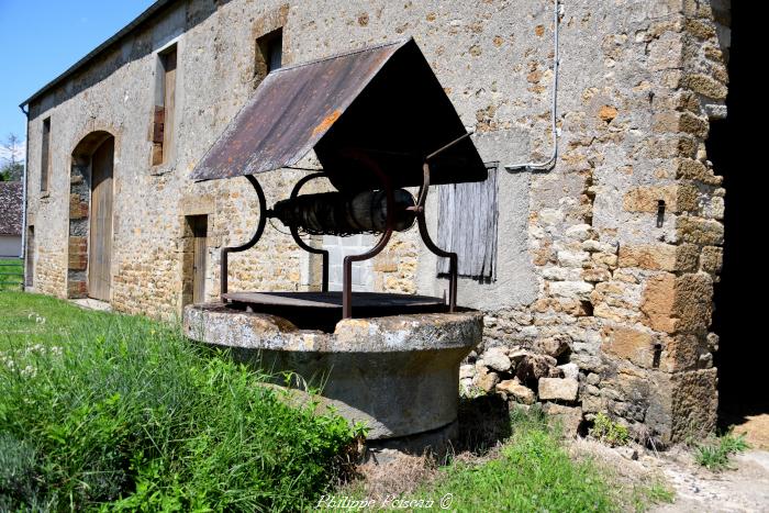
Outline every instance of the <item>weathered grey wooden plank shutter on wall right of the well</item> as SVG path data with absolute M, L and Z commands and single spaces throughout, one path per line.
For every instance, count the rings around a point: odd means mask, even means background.
M 472 183 L 441 186 L 438 246 L 455 252 L 459 276 L 497 279 L 497 165 L 489 178 Z M 448 272 L 448 258 L 438 258 L 438 274 Z

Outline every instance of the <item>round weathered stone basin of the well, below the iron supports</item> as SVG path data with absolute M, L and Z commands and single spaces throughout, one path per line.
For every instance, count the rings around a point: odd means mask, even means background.
M 239 361 L 322 387 L 341 415 L 366 423 L 371 446 L 439 453 L 456 432 L 459 364 L 481 341 L 482 314 L 343 319 L 324 333 L 209 303 L 187 306 L 185 333 L 232 348 Z

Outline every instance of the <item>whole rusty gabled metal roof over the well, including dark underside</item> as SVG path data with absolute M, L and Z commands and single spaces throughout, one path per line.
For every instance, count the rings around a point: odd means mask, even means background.
M 364 153 L 397 187 L 422 182 L 424 157 L 466 133 L 409 38 L 270 73 L 192 171 L 194 180 L 267 172 L 315 149 L 339 189 L 377 186 L 349 157 Z M 467 138 L 435 159 L 433 182 L 478 181 L 486 167 Z

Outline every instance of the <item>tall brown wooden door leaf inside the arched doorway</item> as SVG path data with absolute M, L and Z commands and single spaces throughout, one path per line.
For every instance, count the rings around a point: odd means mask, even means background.
M 88 295 L 110 300 L 112 276 L 112 166 L 114 140 L 110 137 L 91 158 L 91 211 L 88 258 Z

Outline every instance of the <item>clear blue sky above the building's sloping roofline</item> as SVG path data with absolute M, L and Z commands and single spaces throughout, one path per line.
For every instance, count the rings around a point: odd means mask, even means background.
M 26 136 L 19 103 L 141 14 L 153 0 L 0 0 L 0 141 Z

